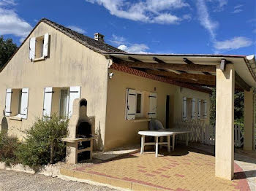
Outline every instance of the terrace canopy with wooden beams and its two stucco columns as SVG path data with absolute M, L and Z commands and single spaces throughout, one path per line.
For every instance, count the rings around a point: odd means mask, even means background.
M 108 52 L 118 66 L 188 84 L 216 87 L 215 175 L 234 176 L 234 92 L 244 91 L 244 149 L 255 149 L 255 55 L 157 55 Z

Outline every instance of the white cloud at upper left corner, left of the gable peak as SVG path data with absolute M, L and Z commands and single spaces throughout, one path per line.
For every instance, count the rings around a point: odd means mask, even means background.
M 15 1 L 0 0 L 0 35 L 12 34 L 24 39 L 32 27 L 13 9 Z

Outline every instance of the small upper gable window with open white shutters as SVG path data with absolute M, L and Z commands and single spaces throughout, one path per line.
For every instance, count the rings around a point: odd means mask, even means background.
M 49 34 L 32 37 L 29 43 L 29 59 L 31 61 L 45 60 L 48 57 Z

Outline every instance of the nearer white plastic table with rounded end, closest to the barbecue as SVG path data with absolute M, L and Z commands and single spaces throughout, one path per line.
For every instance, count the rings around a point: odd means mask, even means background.
M 155 145 L 156 157 L 158 156 L 158 145 L 167 144 L 167 151 L 170 152 L 170 136 L 173 135 L 172 132 L 158 131 L 158 130 L 145 130 L 145 131 L 139 131 L 138 134 L 141 135 L 140 155 L 143 154 L 145 145 Z M 154 136 L 155 142 L 145 143 L 145 136 Z M 167 142 L 158 142 L 158 138 L 163 136 L 167 136 Z

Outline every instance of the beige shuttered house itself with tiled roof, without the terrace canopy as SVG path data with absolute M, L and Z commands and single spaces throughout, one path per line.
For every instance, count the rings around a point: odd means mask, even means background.
M 88 101 L 99 149 L 139 142 L 138 130 L 146 130 L 151 118 L 169 128 L 174 120 L 209 122 L 211 90 L 165 82 L 127 67 L 111 68 L 112 59 L 103 53 L 123 51 L 103 38 L 40 20 L 1 70 L 0 109 L 7 121 L 2 128 L 22 139 L 36 117 L 70 117 L 75 98 Z

